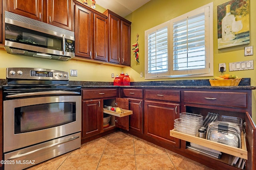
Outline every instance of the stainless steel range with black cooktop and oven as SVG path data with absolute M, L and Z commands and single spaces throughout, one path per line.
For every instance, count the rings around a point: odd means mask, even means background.
M 20 170 L 81 146 L 81 86 L 68 72 L 7 68 L 4 169 Z

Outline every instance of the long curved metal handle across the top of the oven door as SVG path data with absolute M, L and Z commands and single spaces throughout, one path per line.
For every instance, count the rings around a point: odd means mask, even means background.
M 70 91 L 46 91 L 46 92 L 30 92 L 21 94 L 11 94 L 6 96 L 6 98 L 19 98 L 19 97 L 29 97 L 29 96 L 39 96 L 39 95 L 59 95 L 59 94 L 81 94 L 80 92 L 70 92 Z

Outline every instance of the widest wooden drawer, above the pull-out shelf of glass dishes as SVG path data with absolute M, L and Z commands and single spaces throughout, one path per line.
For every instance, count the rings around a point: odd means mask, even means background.
M 247 108 L 247 98 L 244 92 L 184 91 L 184 102 L 192 104 Z

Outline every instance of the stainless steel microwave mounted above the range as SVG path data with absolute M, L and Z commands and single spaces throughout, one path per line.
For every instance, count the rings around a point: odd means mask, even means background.
M 75 50 L 74 32 L 5 11 L 7 53 L 68 61 Z

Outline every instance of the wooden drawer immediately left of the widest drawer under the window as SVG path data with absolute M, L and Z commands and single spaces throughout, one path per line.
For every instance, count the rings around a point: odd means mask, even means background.
M 146 99 L 180 102 L 178 90 L 146 90 Z

